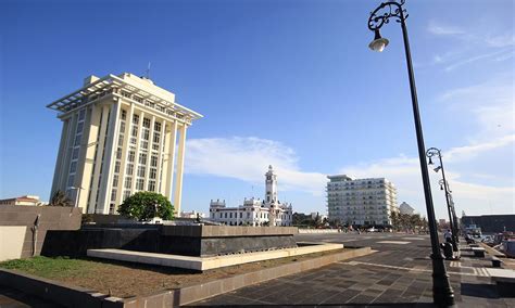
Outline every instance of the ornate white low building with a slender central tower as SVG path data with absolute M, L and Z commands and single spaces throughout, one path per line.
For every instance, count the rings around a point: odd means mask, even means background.
M 277 175 L 272 166 L 265 174 L 265 198 L 244 198 L 243 205 L 226 207 L 225 201 L 212 200 L 210 220 L 228 226 L 291 226 L 291 204 L 281 204 L 277 194 Z

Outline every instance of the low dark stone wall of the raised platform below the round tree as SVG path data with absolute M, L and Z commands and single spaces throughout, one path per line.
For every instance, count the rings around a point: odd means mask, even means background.
M 84 226 L 77 231 L 51 231 L 45 256 L 86 256 L 87 249 L 117 248 L 184 256 L 217 256 L 297 247 L 292 227 Z

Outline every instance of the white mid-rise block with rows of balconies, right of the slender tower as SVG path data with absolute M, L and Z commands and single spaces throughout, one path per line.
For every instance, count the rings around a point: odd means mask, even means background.
M 399 211 L 395 187 L 385 178 L 356 179 L 328 176 L 329 220 L 353 226 L 390 226 L 390 214 Z

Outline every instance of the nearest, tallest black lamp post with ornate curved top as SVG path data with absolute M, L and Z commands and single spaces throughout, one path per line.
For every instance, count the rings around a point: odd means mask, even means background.
M 410 42 L 407 39 L 407 29 L 405 20 L 406 11 L 402 8 L 405 0 L 400 2 L 389 1 L 381 3 L 370 13 L 368 18 L 368 28 L 374 31 L 375 38 L 368 46 L 374 51 L 382 51 L 388 44 L 388 40 L 381 38 L 379 29 L 382 25 L 388 24 L 390 18 L 401 24 L 402 36 L 404 38 L 404 51 L 406 54 L 407 76 L 410 78 L 410 89 L 412 95 L 413 116 L 415 119 L 416 139 L 418 145 L 418 158 L 420 161 L 422 180 L 424 184 L 424 196 L 426 200 L 427 220 L 429 223 L 429 234 L 431 238 L 431 260 L 432 260 L 432 299 L 439 306 L 454 305 L 454 292 L 449 282 L 449 274 L 443 264 L 443 256 L 440 252 L 438 241 L 437 221 L 435 219 L 435 208 L 432 206 L 431 187 L 429 184 L 429 172 L 426 165 L 426 151 L 424 146 L 424 136 L 422 131 L 422 121 L 418 113 L 418 102 L 415 87 L 415 76 L 413 74 L 413 64 L 410 52 Z

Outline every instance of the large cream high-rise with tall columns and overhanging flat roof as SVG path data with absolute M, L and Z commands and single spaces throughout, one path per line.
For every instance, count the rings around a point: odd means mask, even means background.
M 127 73 L 90 76 L 48 107 L 63 121 L 51 196 L 60 190 L 84 213 L 116 214 L 127 196 L 153 191 L 180 213 L 186 132 L 200 114 Z

